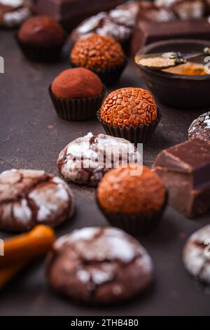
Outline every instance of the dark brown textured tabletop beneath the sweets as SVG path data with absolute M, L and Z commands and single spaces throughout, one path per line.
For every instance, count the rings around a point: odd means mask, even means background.
M 48 86 L 69 67 L 68 59 L 53 65 L 27 62 L 15 44 L 13 32 L 0 32 L 0 55 L 5 73 L 0 74 L 0 170 L 43 169 L 57 174 L 59 151 L 71 140 L 103 132 L 97 121 L 68 122 L 57 118 Z M 130 64 L 118 86 L 144 87 Z M 162 106 L 163 119 L 150 143 L 144 145 L 144 163 L 151 166 L 160 150 L 187 139 L 188 126 L 202 109 L 186 111 Z M 97 209 L 94 189 L 71 184 L 76 214 L 57 229 L 57 236 L 75 228 L 106 225 Z M 197 284 L 182 264 L 187 237 L 209 223 L 209 214 L 188 220 L 167 208 L 158 230 L 140 241 L 155 263 L 155 284 L 134 301 L 111 308 L 76 305 L 50 291 L 44 262 L 38 260 L 22 271 L 0 293 L 0 315 L 209 315 L 210 289 Z M 3 232 L 0 237 L 4 238 Z

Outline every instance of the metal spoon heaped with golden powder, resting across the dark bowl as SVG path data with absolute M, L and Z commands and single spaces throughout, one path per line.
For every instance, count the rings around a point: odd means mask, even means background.
M 205 47 L 203 51 L 192 53 L 167 52 L 137 55 L 135 62 L 140 67 L 148 67 L 151 70 L 165 70 L 169 67 L 185 64 L 191 58 L 204 55 L 210 55 L 209 47 Z

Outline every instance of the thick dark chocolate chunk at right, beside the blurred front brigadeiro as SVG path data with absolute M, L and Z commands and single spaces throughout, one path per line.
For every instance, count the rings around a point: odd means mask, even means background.
M 187 218 L 210 209 L 210 145 L 195 139 L 163 150 L 153 164 L 169 192 L 169 205 Z

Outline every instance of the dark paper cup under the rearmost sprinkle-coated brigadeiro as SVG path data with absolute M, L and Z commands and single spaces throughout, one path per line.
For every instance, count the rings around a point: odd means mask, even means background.
M 71 62 L 72 67 L 77 67 Z M 127 60 L 122 65 L 118 65 L 117 67 L 113 67 L 112 69 L 105 70 L 105 71 L 94 71 L 95 74 L 102 80 L 103 84 L 107 87 L 113 86 L 117 84 L 118 80 L 120 79 L 123 70 L 127 65 Z

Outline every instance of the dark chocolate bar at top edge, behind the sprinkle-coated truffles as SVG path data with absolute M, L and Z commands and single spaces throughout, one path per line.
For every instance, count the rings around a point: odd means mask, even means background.
M 109 11 L 123 2 L 123 0 L 34 0 L 34 13 L 50 15 L 66 29 L 73 29 L 85 18 L 99 11 Z

